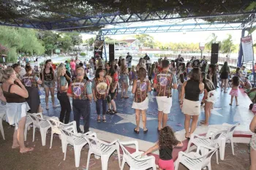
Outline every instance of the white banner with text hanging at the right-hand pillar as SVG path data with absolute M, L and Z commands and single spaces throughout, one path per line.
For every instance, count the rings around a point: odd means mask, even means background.
M 242 48 L 243 48 L 244 62 L 253 61 L 254 55 L 253 55 L 252 36 L 242 37 L 241 44 L 242 44 Z

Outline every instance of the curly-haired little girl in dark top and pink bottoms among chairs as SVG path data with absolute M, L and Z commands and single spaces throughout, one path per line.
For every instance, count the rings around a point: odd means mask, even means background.
M 169 126 L 165 126 L 160 131 L 157 144 L 149 148 L 142 156 L 154 150 L 159 150 L 159 170 L 174 170 L 173 147 L 183 147 L 183 143 L 176 139 L 173 130 Z

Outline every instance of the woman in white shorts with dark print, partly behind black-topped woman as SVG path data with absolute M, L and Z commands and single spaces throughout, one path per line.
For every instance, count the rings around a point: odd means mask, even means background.
M 211 80 L 206 78 L 206 73 L 202 72 L 201 77 L 203 80 L 203 84 L 205 85 L 204 89 L 204 97 L 205 98 L 205 120 L 200 121 L 200 125 L 209 125 L 209 117 L 211 115 L 211 108 L 213 107 L 216 99 L 217 99 L 217 92 L 214 87 L 214 83 Z

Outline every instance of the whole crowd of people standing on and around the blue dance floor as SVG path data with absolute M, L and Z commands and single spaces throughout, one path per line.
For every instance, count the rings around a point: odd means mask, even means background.
M 25 73 L 21 74 L 25 70 Z M 219 85 L 219 79 L 221 83 Z M 209 125 L 211 109 L 217 100 L 217 88 L 227 93 L 230 90 L 230 105 L 233 98 L 238 106 L 238 88 L 252 90 L 252 85 L 246 77 L 245 66 L 237 68 L 231 74 L 228 63 L 225 62 L 221 69 L 217 64 L 209 64 L 206 57 L 201 60 L 192 57 L 184 63 L 184 58 L 178 55 L 176 60 L 159 58 L 151 62 L 146 54 L 140 58 L 137 65 L 132 65 L 132 56 L 127 53 L 126 58 L 104 63 L 102 58 L 91 58 L 88 63 L 82 63 L 78 58 L 53 66 L 51 60 L 45 61 L 41 72 L 31 64 L 26 63 L 25 68 L 18 63 L 1 70 L 0 99 L 7 104 L 7 121 L 15 124 L 15 133 L 12 148 L 20 148 L 20 152 L 29 152 L 33 147 L 24 144 L 24 128 L 26 112 L 42 112 L 49 109 L 49 95 L 52 106 L 56 107 L 55 91 L 61 106 L 59 120 L 69 123 L 70 112 L 73 110 L 74 120 L 77 123 L 78 133 L 86 133 L 90 127 L 91 102 L 96 103 L 97 122 L 106 123 L 106 114 L 115 115 L 115 99 L 120 93 L 121 98 L 129 98 L 128 88 L 132 85 L 134 99 L 132 108 L 135 109 L 137 126 L 136 134 L 140 133 L 140 115 L 142 115 L 143 133 L 148 133 L 146 126 L 146 110 L 148 109 L 148 95 L 155 95 L 158 106 L 158 127 L 172 132 L 167 127 L 168 114 L 173 104 L 173 90 L 178 89 L 178 101 L 181 112 L 185 115 L 184 136 L 189 139 L 190 134 L 197 128 L 200 107 L 204 105 L 205 120 L 200 125 Z M 39 85 L 45 90 L 45 108 L 40 106 Z M 148 94 L 151 93 L 151 94 Z M 200 94 L 203 99 L 200 100 Z M 69 98 L 72 98 L 72 106 Z M 107 108 L 108 106 L 108 108 Z M 102 115 L 102 117 L 101 117 Z M 80 117 L 83 117 L 83 131 L 80 130 Z M 190 122 L 192 123 L 190 125 Z M 190 127 L 190 128 L 189 128 Z M 255 146 L 255 134 L 252 137 L 252 147 Z M 177 140 L 173 145 L 181 145 Z M 168 146 L 168 145 L 167 145 Z M 159 148 L 159 145 L 155 146 Z M 148 150 L 150 152 L 150 150 Z M 256 151 L 254 151 L 256 152 Z

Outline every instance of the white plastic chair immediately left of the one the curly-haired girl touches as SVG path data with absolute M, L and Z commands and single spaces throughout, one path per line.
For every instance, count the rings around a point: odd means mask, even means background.
M 90 163 L 90 158 L 92 153 L 101 158 L 102 170 L 108 170 L 108 160 L 110 158 L 110 155 L 112 155 L 113 152 L 115 152 L 115 150 L 118 152 L 118 162 L 120 166 L 120 151 L 119 151 L 119 144 L 117 140 L 111 143 L 107 143 L 92 136 L 85 136 L 85 139 L 89 143 L 89 152 L 88 152 L 86 170 L 89 170 L 89 163 Z

